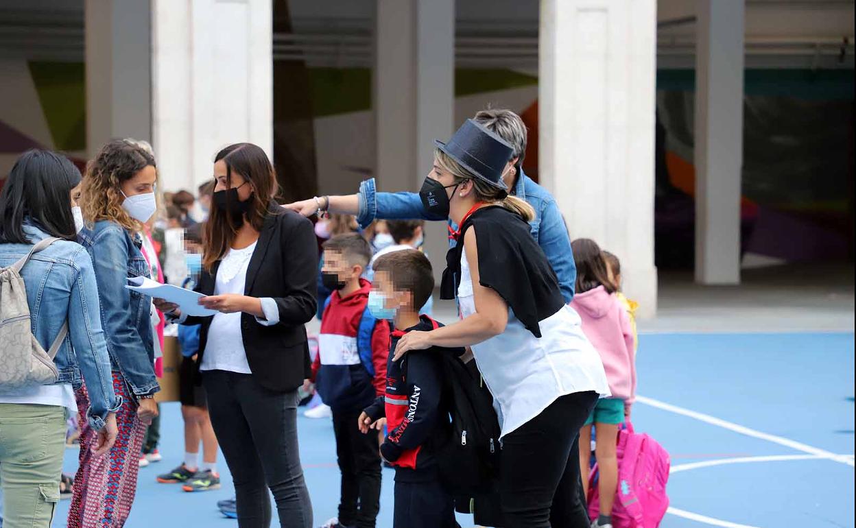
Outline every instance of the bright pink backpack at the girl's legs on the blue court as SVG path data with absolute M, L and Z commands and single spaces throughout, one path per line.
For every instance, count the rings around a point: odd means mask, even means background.
M 669 453 L 651 436 L 633 432 L 633 424 L 618 431 L 618 486 L 612 507 L 615 528 L 657 528 L 666 508 Z M 597 464 L 589 477 L 589 517 L 597 518 L 600 501 Z

